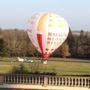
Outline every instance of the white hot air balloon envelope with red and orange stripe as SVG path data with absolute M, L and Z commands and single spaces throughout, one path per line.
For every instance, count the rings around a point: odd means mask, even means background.
M 55 13 L 41 12 L 28 21 L 27 33 L 42 57 L 47 59 L 66 40 L 69 25 Z

